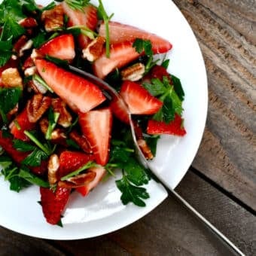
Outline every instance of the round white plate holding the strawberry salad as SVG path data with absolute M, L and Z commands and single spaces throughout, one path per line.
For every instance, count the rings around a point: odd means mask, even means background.
M 47 4 L 50 1 L 38 1 Z M 177 139 L 164 136 L 157 146 L 152 168 L 175 187 L 194 159 L 203 135 L 207 111 L 207 81 L 203 57 L 197 40 L 181 12 L 170 0 L 103 1 L 112 20 L 154 32 L 168 39 L 173 48 L 169 72 L 181 78 L 185 91 L 184 126 L 187 135 Z M 97 1 L 93 1 L 98 5 Z M 125 227 L 151 212 L 166 197 L 166 190 L 154 181 L 148 185 L 151 198 L 140 208 L 120 203 L 120 192 L 114 179 L 96 187 L 88 197 L 72 194 L 62 218 L 64 227 L 47 224 L 41 212 L 38 187 L 29 187 L 19 194 L 0 178 L 0 224 L 3 227 L 45 239 L 83 239 L 99 236 Z

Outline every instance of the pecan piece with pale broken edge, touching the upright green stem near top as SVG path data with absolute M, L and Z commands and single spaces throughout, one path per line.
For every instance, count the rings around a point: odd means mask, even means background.
M 102 50 L 105 44 L 105 38 L 98 36 L 83 50 L 83 58 L 93 62 L 98 59 L 102 54 Z

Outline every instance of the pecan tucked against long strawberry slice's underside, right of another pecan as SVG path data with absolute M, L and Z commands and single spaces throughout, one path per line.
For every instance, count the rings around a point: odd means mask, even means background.
M 53 106 L 53 111 L 59 113 L 58 123 L 62 127 L 66 128 L 72 124 L 72 115 L 66 109 L 66 103 L 60 98 L 52 99 L 51 105 Z

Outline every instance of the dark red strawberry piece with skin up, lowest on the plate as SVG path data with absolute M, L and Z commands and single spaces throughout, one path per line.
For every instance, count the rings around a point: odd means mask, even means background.
M 57 187 L 55 192 L 50 188 L 40 187 L 41 206 L 44 217 L 50 224 L 57 224 L 61 218 L 63 209 L 69 200 L 70 189 Z

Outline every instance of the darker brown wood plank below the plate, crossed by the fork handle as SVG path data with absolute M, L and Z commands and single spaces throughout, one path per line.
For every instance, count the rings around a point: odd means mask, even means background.
M 178 192 L 247 255 L 256 252 L 256 218 L 202 178 L 188 172 Z M 80 255 L 227 255 L 194 216 L 170 195 L 157 209 L 134 224 L 93 239 L 54 241 Z M 118 249 L 119 248 L 119 249 Z

